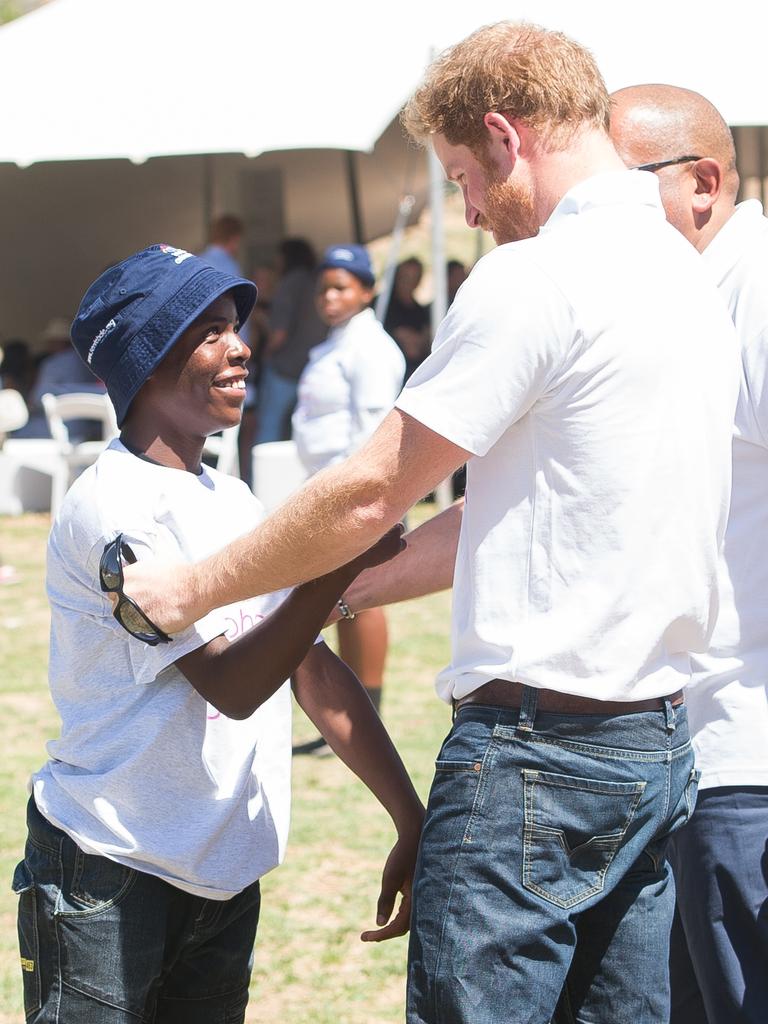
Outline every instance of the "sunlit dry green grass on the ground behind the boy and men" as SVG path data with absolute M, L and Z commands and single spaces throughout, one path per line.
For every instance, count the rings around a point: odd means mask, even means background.
M 19 1024 L 24 1016 L 10 878 L 24 848 L 27 780 L 58 728 L 46 676 L 48 526 L 47 516 L 0 519 L 0 552 L 22 574 L 18 584 L 0 587 L 0 1024 Z M 449 595 L 439 594 L 389 612 L 383 715 L 423 796 L 451 721 L 432 687 L 447 659 L 449 607 Z M 296 735 L 307 738 L 311 731 L 297 711 Z M 379 873 L 393 842 L 389 819 L 336 759 L 297 759 L 293 793 L 286 862 L 262 883 L 247 1020 L 401 1021 L 406 939 L 359 941 L 360 931 L 374 926 Z

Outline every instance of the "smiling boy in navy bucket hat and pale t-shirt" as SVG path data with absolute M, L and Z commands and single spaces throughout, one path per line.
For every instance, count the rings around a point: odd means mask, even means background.
M 255 292 L 152 246 L 98 278 L 73 326 L 122 432 L 76 481 L 49 541 L 61 734 L 33 776 L 13 882 L 28 1020 L 243 1021 L 258 879 L 288 833 L 288 677 L 392 816 L 377 922 L 400 890 L 383 932 L 408 928 L 421 804 L 365 691 L 315 642 L 357 572 L 399 550 L 399 532 L 287 597 L 221 608 L 173 640 L 125 599 L 113 615 L 102 592 L 119 594 L 121 556 L 199 559 L 258 520 L 250 490 L 201 463 L 206 436 L 240 422 L 250 353 L 237 330 Z

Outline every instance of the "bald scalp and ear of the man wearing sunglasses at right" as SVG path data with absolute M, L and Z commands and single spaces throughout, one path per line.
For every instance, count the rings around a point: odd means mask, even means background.
M 673 85 L 633 85 L 611 96 L 610 134 L 629 167 L 678 157 L 656 172 L 668 219 L 703 250 L 733 212 L 736 154 L 709 99 Z

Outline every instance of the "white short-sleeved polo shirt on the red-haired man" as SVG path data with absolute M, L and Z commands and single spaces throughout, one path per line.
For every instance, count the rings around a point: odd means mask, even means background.
M 717 612 L 733 326 L 647 172 L 596 175 L 483 257 L 397 407 L 471 452 L 445 699 L 688 682 Z

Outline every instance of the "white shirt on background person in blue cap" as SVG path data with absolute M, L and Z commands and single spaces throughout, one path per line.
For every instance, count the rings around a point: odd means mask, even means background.
M 406 360 L 364 309 L 309 353 L 299 381 L 293 439 L 308 473 L 341 462 L 373 434 L 400 393 Z

